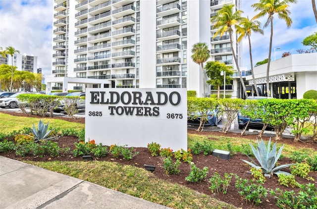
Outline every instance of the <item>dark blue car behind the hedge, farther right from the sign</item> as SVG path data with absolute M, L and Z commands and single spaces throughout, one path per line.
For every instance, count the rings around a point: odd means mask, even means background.
M 262 100 L 262 99 L 272 99 L 271 97 L 248 97 L 247 100 Z M 248 108 L 247 106 L 244 108 Z M 249 122 L 250 117 L 244 116 L 241 112 L 238 113 L 238 126 L 239 129 L 243 129 Z M 255 128 L 255 129 L 262 129 L 263 128 L 263 121 L 261 118 L 251 119 L 249 122 L 248 127 Z M 267 129 L 272 129 L 271 126 L 268 125 Z

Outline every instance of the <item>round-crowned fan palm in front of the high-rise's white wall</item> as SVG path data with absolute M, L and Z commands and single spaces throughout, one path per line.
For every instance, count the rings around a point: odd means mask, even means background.
M 205 82 L 205 72 L 204 72 L 204 62 L 206 62 L 210 57 L 210 50 L 208 49 L 208 46 L 206 43 L 196 43 L 193 45 L 192 48 L 192 59 L 195 63 L 199 64 L 202 69 L 202 76 L 203 76 L 203 86 L 204 86 L 204 97 L 205 95 L 205 88 L 206 88 L 206 82 Z

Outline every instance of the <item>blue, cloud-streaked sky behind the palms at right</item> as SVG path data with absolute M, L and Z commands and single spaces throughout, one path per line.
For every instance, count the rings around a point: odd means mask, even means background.
M 241 10 L 244 11 L 242 16 L 249 15 L 249 18 L 252 18 L 256 12 L 254 12 L 254 8 L 251 5 L 256 2 L 258 0 L 242 0 Z M 274 15 L 271 59 L 274 59 L 274 48 L 281 48 L 275 50 L 276 58 L 281 57 L 283 52 L 294 54 L 297 53 L 296 50 L 298 49 L 309 49 L 309 47 L 303 46 L 301 42 L 305 37 L 317 31 L 311 0 L 298 0 L 296 4 L 290 4 L 289 10 L 291 11 L 290 17 L 293 20 L 290 28 L 287 28 L 284 20 L 279 19 L 276 14 Z M 267 17 L 259 19 L 262 27 L 266 19 Z M 264 36 L 261 34 L 252 34 L 251 44 L 254 64 L 268 57 L 269 38 L 269 25 L 264 28 Z M 247 39 L 243 40 L 243 66 L 248 66 L 250 69 L 249 44 Z

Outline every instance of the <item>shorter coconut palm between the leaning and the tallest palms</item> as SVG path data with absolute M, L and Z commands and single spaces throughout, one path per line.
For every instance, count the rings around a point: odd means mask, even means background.
M 257 20 L 250 20 L 249 17 L 243 17 L 239 23 L 239 25 L 236 25 L 237 33 L 240 34 L 238 38 L 238 42 L 240 42 L 244 37 L 248 37 L 249 40 L 249 52 L 250 52 L 250 62 L 251 62 L 251 73 L 252 73 L 252 79 L 253 79 L 253 85 L 256 89 L 257 96 L 259 95 L 259 91 L 256 84 L 256 79 L 254 78 L 254 71 L 253 71 L 253 61 L 252 61 L 252 50 L 251 50 L 251 32 L 255 33 L 261 33 L 264 34 L 263 30 L 260 28 L 261 23 Z

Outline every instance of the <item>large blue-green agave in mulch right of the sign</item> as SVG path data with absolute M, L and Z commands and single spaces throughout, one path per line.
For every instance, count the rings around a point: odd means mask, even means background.
M 258 146 L 257 149 L 254 148 L 252 144 L 249 144 L 254 156 L 259 161 L 260 165 L 258 165 L 251 157 L 248 157 L 251 159 L 252 162 L 249 162 L 247 160 L 242 159 L 242 161 L 248 163 L 252 167 L 255 167 L 257 170 L 262 169 L 264 176 L 271 177 L 272 174 L 285 174 L 290 175 L 290 173 L 281 171 L 282 168 L 288 167 L 290 165 L 294 164 L 284 164 L 279 165 L 275 167 L 276 162 L 278 158 L 281 156 L 282 150 L 284 148 L 284 145 L 279 149 L 278 153 L 276 153 L 276 142 L 272 147 L 272 150 L 270 150 L 271 147 L 271 138 L 268 141 L 267 148 L 265 146 L 265 143 L 263 139 L 261 138 L 261 142 L 259 142 L 258 138 Z

